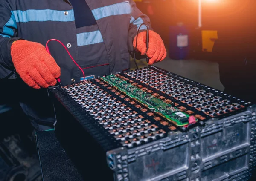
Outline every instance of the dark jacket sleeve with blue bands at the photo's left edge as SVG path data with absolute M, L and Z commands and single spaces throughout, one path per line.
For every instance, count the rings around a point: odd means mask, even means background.
M 20 38 L 16 37 L 17 23 L 14 14 L 6 2 L 0 0 L 0 80 L 14 75 L 11 46 Z

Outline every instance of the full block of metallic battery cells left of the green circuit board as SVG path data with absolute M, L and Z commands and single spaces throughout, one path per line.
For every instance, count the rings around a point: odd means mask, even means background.
M 138 145 L 156 138 L 154 134 L 158 131 L 157 126 L 151 126 L 150 121 L 95 84 L 79 83 L 64 87 L 64 90 L 113 137 L 120 140 L 123 146 L 132 147 L 135 143 Z M 124 134 L 129 136 L 123 136 Z M 139 136 L 140 140 L 137 138 Z

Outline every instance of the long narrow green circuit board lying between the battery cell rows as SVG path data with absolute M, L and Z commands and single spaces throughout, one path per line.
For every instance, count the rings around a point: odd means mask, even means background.
M 131 98 L 134 98 L 136 101 L 142 103 L 148 109 L 154 109 L 154 112 L 163 116 L 169 121 L 172 121 L 176 126 L 186 126 L 189 124 L 189 115 L 185 112 L 180 112 L 176 107 L 163 102 L 162 100 L 155 98 L 151 94 L 139 89 L 137 86 L 132 85 L 131 83 L 122 80 L 115 75 L 108 75 L 101 78 L 108 84 L 116 87 L 121 92 L 124 92 Z M 196 119 L 196 121 L 198 121 Z

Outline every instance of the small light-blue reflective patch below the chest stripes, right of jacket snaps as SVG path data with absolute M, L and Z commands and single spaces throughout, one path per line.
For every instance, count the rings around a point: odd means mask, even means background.
M 103 42 L 102 34 L 99 30 L 76 34 L 77 46 L 92 45 Z

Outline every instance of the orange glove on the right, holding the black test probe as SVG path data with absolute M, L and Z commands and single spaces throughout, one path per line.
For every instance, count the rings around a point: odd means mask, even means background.
M 146 46 L 146 31 L 138 34 L 137 50 L 142 55 L 147 55 L 149 58 L 149 65 L 162 61 L 166 57 L 166 48 L 163 44 L 163 40 L 160 35 L 154 31 L 149 30 L 149 43 L 148 51 Z M 133 42 L 134 47 L 136 46 L 136 37 Z

